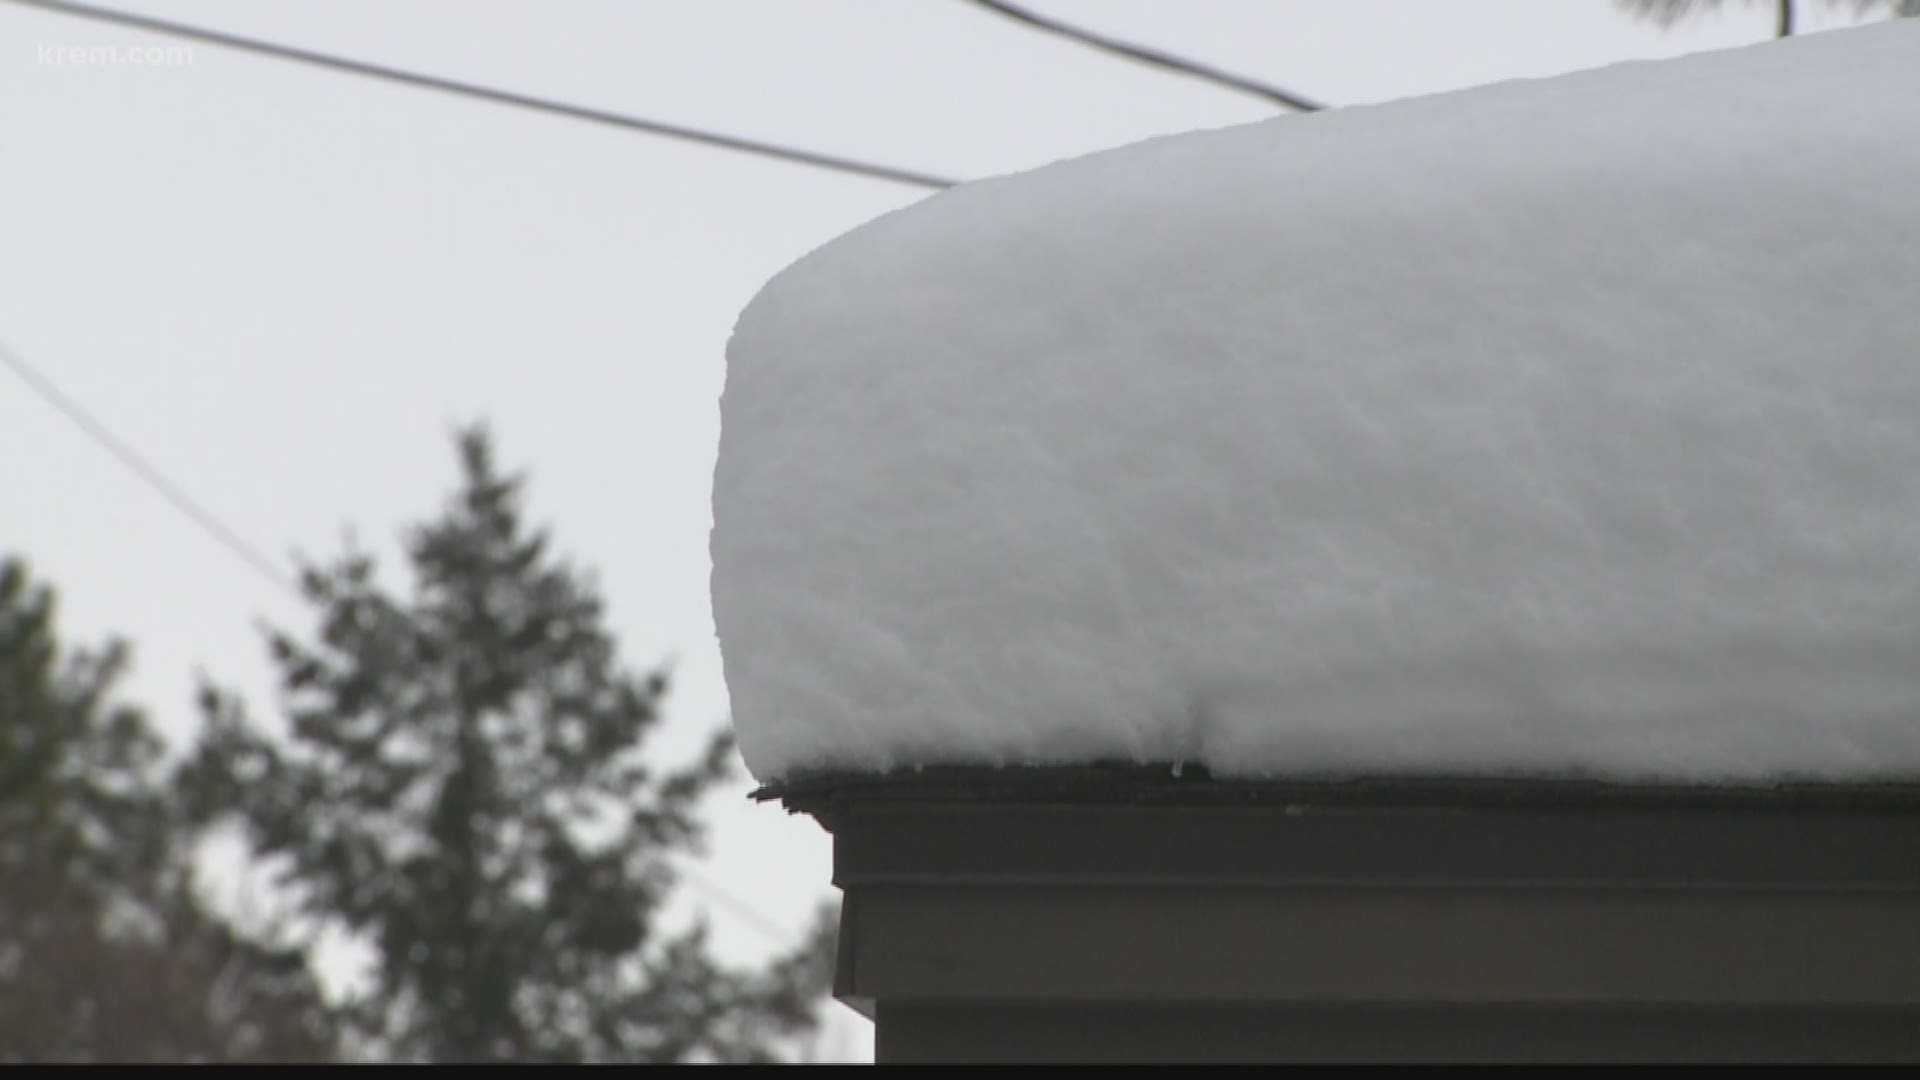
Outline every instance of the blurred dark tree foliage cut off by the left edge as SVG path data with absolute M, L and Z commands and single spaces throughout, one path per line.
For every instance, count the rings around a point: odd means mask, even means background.
M 0 1061 L 332 1057 L 305 959 L 198 903 L 125 665 L 65 650 L 54 592 L 0 559 Z

